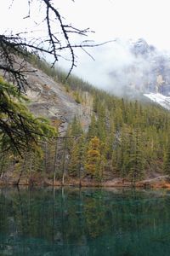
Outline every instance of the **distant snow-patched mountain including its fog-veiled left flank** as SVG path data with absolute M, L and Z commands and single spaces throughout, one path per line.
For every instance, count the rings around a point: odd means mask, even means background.
M 127 96 L 140 92 L 161 107 L 170 109 L 170 53 L 156 49 L 143 38 L 126 42 L 126 51 L 130 53 L 129 61 L 114 69 L 111 78 L 119 77 L 118 84 Z

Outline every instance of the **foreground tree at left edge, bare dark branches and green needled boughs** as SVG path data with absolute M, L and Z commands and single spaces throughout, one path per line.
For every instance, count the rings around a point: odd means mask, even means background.
M 13 7 L 14 2 L 15 0 L 11 1 L 10 8 Z M 82 41 L 81 44 L 75 44 L 71 39 L 72 34 L 85 37 L 90 30 L 89 28 L 78 29 L 65 23 L 65 18 L 59 13 L 53 0 L 27 0 L 27 3 L 28 15 L 25 17 L 27 19 L 31 19 L 32 3 L 39 4 L 41 15 L 44 17 L 42 23 L 46 25 L 46 38 L 34 38 L 35 31 L 0 34 L 0 71 L 3 78 L 10 82 L 10 84 L 6 83 L 3 79 L 0 81 L 0 100 L 2 99 L 0 102 L 0 148 L 7 150 L 12 147 L 18 153 L 29 147 L 32 142 L 37 143 L 37 137 L 44 137 L 50 133 L 48 129 L 47 132 L 36 131 L 38 125 L 39 127 L 42 125 L 45 129 L 44 121 L 39 121 L 37 125 L 37 121 L 31 116 L 31 113 L 27 111 L 26 116 L 23 117 L 21 108 L 13 108 L 15 101 L 20 102 L 21 95 L 28 85 L 27 74 L 36 72 L 27 65 L 29 56 L 52 55 L 54 57 L 52 67 L 54 67 L 56 61 L 63 57 L 65 49 L 68 49 L 71 57 L 68 77 L 73 67 L 76 66 L 75 49 L 96 46 L 88 40 Z M 31 34 L 28 35 L 28 33 Z M 16 86 L 17 90 L 11 83 Z M 22 106 L 22 108 L 24 107 Z M 32 121 L 33 119 L 34 121 Z M 37 126 L 34 124 L 32 127 L 32 123 L 36 123 Z M 50 127 L 48 128 L 50 131 Z

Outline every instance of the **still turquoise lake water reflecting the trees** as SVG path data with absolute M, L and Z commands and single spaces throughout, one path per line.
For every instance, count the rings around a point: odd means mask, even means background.
M 170 255 L 170 192 L 0 189 L 0 255 Z

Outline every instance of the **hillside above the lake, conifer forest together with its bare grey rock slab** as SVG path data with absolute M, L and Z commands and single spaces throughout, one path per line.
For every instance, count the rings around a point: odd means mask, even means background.
M 27 76 L 28 107 L 50 119 L 59 136 L 24 159 L 3 154 L 2 183 L 143 186 L 150 178 L 167 179 L 168 111 L 112 96 L 74 76 L 64 82 L 61 70 L 37 59 L 31 63 L 37 73 Z

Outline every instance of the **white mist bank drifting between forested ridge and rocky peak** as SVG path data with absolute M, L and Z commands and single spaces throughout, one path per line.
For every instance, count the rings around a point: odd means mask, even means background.
M 90 49 L 94 61 L 79 51 L 78 65 L 73 73 L 100 89 L 122 96 L 127 85 L 138 84 L 148 69 L 148 61 L 133 55 L 131 46 L 130 42 L 116 39 L 110 44 Z

